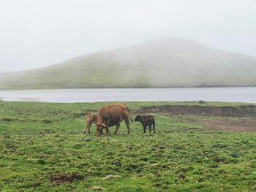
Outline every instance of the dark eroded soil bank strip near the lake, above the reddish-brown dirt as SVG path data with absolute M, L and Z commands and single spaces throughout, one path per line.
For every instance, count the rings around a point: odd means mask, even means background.
M 256 105 L 240 105 L 236 107 L 200 105 L 161 105 L 141 107 L 138 112 L 167 112 L 171 115 L 203 115 L 216 117 L 256 117 Z

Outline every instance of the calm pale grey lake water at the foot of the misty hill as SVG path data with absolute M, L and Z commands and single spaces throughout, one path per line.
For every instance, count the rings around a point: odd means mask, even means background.
M 256 87 L 242 88 L 86 88 L 0 91 L 4 101 L 230 101 L 256 103 Z

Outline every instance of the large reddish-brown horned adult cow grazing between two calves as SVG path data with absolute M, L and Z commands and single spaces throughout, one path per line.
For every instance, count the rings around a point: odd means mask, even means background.
M 108 104 L 101 107 L 97 118 L 97 136 L 99 136 L 103 128 L 106 128 L 106 135 L 110 135 L 110 131 L 108 130 L 110 126 L 116 126 L 115 134 L 117 134 L 122 120 L 126 123 L 129 134 L 129 119 L 132 120 L 126 104 Z

